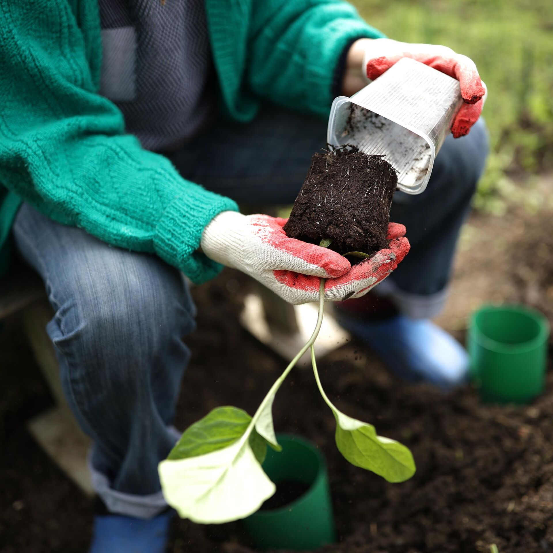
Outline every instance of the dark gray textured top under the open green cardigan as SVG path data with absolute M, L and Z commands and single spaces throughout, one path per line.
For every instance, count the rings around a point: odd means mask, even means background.
M 100 93 L 144 148 L 171 152 L 216 112 L 204 0 L 98 0 Z

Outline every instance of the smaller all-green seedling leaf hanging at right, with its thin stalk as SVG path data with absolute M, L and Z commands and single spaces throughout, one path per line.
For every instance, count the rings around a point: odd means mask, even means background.
M 374 426 L 345 415 L 328 399 L 322 389 L 315 349 L 311 346 L 311 364 L 322 398 L 336 419 L 336 446 L 347 461 L 365 468 L 388 482 L 404 482 L 415 474 L 415 461 L 409 448 L 395 440 L 378 436 Z

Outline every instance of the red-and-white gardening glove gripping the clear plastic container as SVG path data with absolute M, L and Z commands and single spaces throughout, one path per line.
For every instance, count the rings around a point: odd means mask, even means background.
M 467 56 L 456 54 L 447 46 L 409 44 L 379 38 L 367 40 L 361 66 L 363 74 L 369 80 L 374 80 L 401 58 L 420 61 L 460 82 L 461 96 L 465 103 L 453 121 L 451 132 L 454 138 L 468 134 L 480 117 L 487 93 L 486 85 L 480 79 L 474 62 Z

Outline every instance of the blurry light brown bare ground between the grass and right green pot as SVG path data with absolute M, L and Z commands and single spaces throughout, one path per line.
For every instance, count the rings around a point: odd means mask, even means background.
M 553 174 L 539 192 L 553 199 Z M 439 322 L 464 328 L 483 302 L 521 302 L 541 310 L 553 326 L 553 201 L 541 212 L 517 205 L 502 217 L 474 215 L 463 228 L 452 294 Z

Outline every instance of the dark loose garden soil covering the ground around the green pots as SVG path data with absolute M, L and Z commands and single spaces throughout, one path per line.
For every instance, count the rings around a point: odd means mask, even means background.
M 237 324 L 248 284 L 226 271 L 194 291 L 199 328 L 188 340 L 176 424 L 217 405 L 253 413 L 283 361 Z M 20 338 L 17 321 L 0 333 L 0 552 L 82 553 L 92 502 L 51 463 L 25 419 L 51 403 Z M 320 361 L 323 385 L 348 415 L 375 424 L 414 454 L 417 472 L 388 484 L 349 465 L 333 442 L 335 422 L 309 370 L 294 369 L 276 396 L 280 432 L 314 442 L 326 456 L 338 543 L 326 553 L 543 553 L 553 551 L 553 372 L 533 405 L 479 404 L 467 387 L 442 395 L 404 385 L 351 343 Z M 238 523 L 176 521 L 171 553 L 251 553 Z

